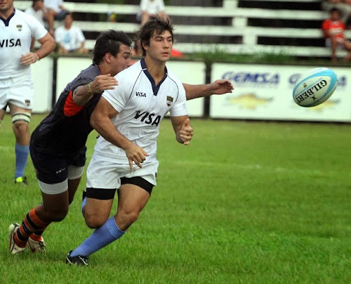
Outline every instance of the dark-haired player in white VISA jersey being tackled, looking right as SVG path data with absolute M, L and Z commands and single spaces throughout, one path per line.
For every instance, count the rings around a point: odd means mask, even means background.
M 98 138 L 87 170 L 84 218 L 97 228 L 69 252 L 68 264 L 88 265 L 88 256 L 121 238 L 137 219 L 156 186 L 159 124 L 169 111 L 176 141 L 189 145 L 193 129 L 185 89 L 166 67 L 173 46 L 173 25 L 152 16 L 138 32 L 143 59 L 115 78 L 91 115 Z M 108 219 L 118 188 L 117 214 Z

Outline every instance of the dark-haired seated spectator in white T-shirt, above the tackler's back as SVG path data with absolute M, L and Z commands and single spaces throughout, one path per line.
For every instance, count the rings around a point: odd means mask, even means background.
M 58 53 L 88 53 L 85 48 L 86 38 L 79 27 L 74 27 L 72 13 L 67 13 L 63 25 L 55 30 L 55 41 Z

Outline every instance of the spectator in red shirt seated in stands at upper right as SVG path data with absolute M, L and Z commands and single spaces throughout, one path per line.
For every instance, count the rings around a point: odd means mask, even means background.
M 345 24 L 340 20 L 340 12 L 337 8 L 332 8 L 329 19 L 322 22 L 322 31 L 326 39 L 326 46 L 331 48 L 331 60 L 336 62 L 336 49 L 343 46 L 349 53 L 344 61 L 351 59 L 351 42 L 344 36 Z

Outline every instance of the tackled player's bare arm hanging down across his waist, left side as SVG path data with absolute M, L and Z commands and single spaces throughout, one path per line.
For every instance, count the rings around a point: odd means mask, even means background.
M 91 126 L 107 141 L 126 151 L 131 170 L 133 170 L 133 162 L 141 168 L 148 154 L 114 127 L 111 119 L 118 114 L 119 112 L 104 97 L 101 97 L 91 115 Z

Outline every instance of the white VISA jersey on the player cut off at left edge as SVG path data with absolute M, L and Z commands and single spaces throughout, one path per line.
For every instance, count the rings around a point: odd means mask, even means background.
M 18 9 L 6 20 L 0 18 L 0 80 L 31 77 L 30 65 L 20 64 L 20 58 L 30 52 L 32 37 L 41 39 L 46 33 L 36 18 Z

